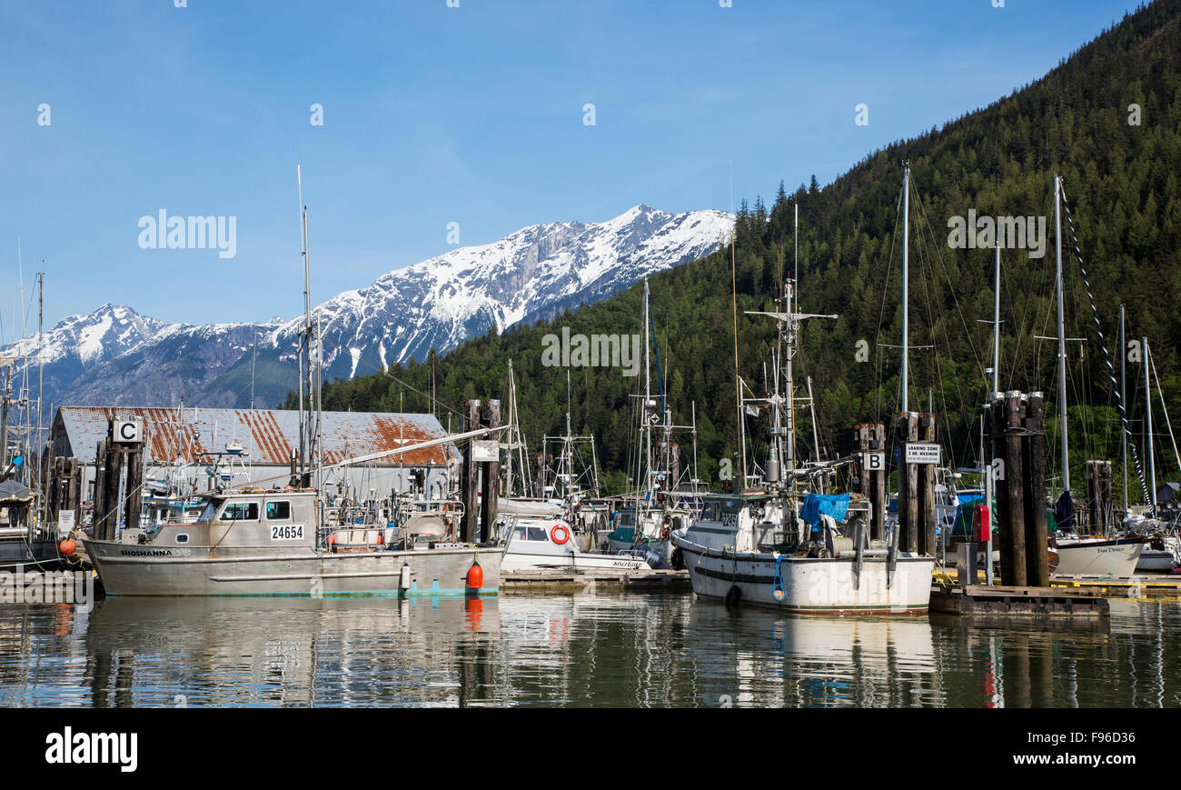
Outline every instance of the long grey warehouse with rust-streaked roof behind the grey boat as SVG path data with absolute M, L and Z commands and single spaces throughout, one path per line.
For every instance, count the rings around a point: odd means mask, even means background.
M 201 493 L 218 486 L 286 485 L 299 455 L 299 412 L 260 409 L 63 406 L 50 434 L 54 458 L 77 458 L 89 499 L 94 456 L 111 420 L 139 420 L 149 487 Z M 430 414 L 325 412 L 324 464 L 397 451 L 448 435 Z M 444 498 L 458 490 L 463 456 L 451 442 L 327 470 L 325 491 L 353 500 L 419 492 Z

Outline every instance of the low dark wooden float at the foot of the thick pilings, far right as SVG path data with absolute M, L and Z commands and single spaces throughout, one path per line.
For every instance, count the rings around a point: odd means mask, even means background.
M 1102 592 L 1062 587 L 987 587 L 935 583 L 931 611 L 951 615 L 1035 615 L 1104 617 L 1111 608 Z

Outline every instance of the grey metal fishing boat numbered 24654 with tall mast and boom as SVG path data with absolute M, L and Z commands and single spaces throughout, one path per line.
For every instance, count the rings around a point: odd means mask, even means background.
M 259 484 L 267 483 L 263 480 L 214 491 L 193 524 L 163 524 L 151 536 L 133 529 L 113 539 L 87 538 L 86 552 L 106 594 L 495 595 L 503 549 L 463 543 L 438 512 L 412 512 L 384 529 L 344 531 L 327 518 L 325 472 L 498 429 L 481 428 L 337 464 L 322 462 L 321 343 L 312 316 L 301 180 L 300 207 L 307 318 L 300 343 L 298 473 L 283 487 L 261 487 Z M 341 532 L 347 540 L 338 539 Z

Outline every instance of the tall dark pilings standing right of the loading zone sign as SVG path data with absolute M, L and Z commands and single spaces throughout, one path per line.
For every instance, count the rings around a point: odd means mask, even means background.
M 996 490 L 1000 583 L 1050 585 L 1046 531 L 1045 409 L 1042 393 L 994 393 L 988 435 Z

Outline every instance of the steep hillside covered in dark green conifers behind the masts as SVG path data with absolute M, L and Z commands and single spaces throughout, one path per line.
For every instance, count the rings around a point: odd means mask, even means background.
M 888 421 L 899 408 L 901 338 L 902 162 L 912 168 L 911 203 L 911 407 L 928 399 L 955 465 L 978 452 L 979 404 L 991 362 L 992 263 L 990 250 L 948 247 L 948 219 L 967 215 L 1044 216 L 1046 254 L 1024 250 L 1003 255 L 1003 389 L 1056 393 L 1053 175 L 1064 179 L 1070 221 L 1063 220 L 1068 397 L 1071 461 L 1082 481 L 1085 458 L 1118 461 L 1118 422 L 1103 348 L 1095 331 L 1071 233 L 1077 233 L 1107 351 L 1118 371 L 1118 306 L 1127 305 L 1129 337 L 1147 335 L 1170 415 L 1181 414 L 1181 0 L 1157 0 L 1082 47 L 1046 77 L 994 104 L 870 154 L 834 183 L 813 179 L 769 205 L 744 202 L 736 221 L 739 364 L 762 389 L 774 323 L 742 315 L 766 310 L 790 271 L 792 211 L 800 207 L 800 307 L 839 313 L 805 323 L 797 383 L 813 380 L 818 433 L 828 456 L 849 449 L 849 428 Z M 1138 105 L 1137 110 L 1130 105 Z M 1138 122 L 1138 123 L 1137 123 Z M 742 144 L 742 141 L 735 141 Z M 653 324 L 667 397 L 678 422 L 696 402 L 700 477 L 716 481 L 718 461 L 736 447 L 731 248 L 652 278 Z M 468 399 L 505 397 L 509 360 L 516 371 L 522 427 L 530 447 L 565 430 L 566 369 L 544 367 L 543 337 L 561 334 L 640 334 L 642 286 L 550 322 L 518 326 L 464 343 L 423 364 L 393 367 L 325 389 L 326 409 L 430 410 L 423 393 L 461 409 Z M 864 341 L 859 347 L 859 341 Z M 859 348 L 868 355 L 859 355 Z M 863 360 L 863 361 L 861 361 Z M 392 376 L 392 377 L 391 377 Z M 1129 362 L 1134 430 L 1143 415 L 1143 373 Z M 396 377 L 396 378 L 394 378 Z M 433 390 L 432 390 L 433 382 Z M 635 399 L 642 377 L 620 369 L 572 370 L 575 432 L 596 438 L 606 470 L 628 467 L 634 445 Z M 1155 397 L 1155 396 L 1154 396 Z M 293 403 L 291 399 L 288 404 Z M 1159 408 L 1160 403 L 1156 403 Z M 446 410 L 437 407 L 444 425 Z M 1052 410 L 1051 410 L 1052 412 Z M 1176 479 L 1163 426 L 1161 479 Z M 454 422 L 452 427 L 458 428 Z M 800 453 L 810 454 L 811 422 L 800 413 Z M 762 435 L 756 419 L 749 430 Z M 687 436 L 683 447 L 689 448 Z M 1048 446 L 1056 447 L 1055 442 Z M 752 456 L 759 452 L 755 448 Z M 1049 466 L 1057 466 L 1050 459 Z M 1118 475 L 1118 471 L 1117 471 Z M 614 481 L 622 484 L 620 474 Z M 1138 485 L 1134 485 L 1134 496 Z

